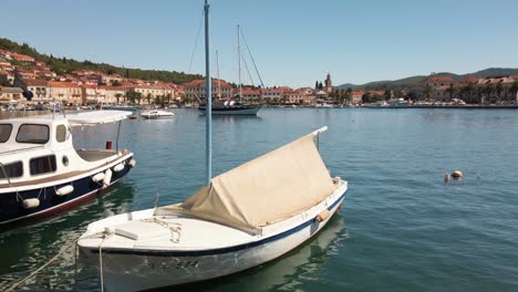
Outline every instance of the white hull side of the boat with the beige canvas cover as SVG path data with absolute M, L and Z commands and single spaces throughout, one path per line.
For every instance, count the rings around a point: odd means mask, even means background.
M 210 280 L 272 261 L 315 236 L 340 208 L 344 192 L 328 207 L 330 216 L 312 218 L 279 234 L 242 246 L 204 251 L 102 250 L 106 291 L 142 291 Z M 99 249 L 81 257 L 99 267 Z

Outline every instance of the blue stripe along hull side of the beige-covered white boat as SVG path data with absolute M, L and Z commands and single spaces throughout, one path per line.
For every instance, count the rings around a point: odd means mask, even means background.
M 328 207 L 328 210 L 332 210 L 334 207 L 336 207 L 338 204 L 342 202 L 342 200 L 345 197 L 345 191 L 340 196 L 339 199 L 336 199 L 330 207 Z M 334 215 L 334 213 L 333 213 Z M 229 247 L 229 248 L 221 248 L 221 249 L 211 249 L 211 250 L 200 250 L 200 251 L 135 251 L 135 250 L 103 250 L 103 253 L 114 253 L 114 254 L 134 254 L 134 255 L 151 255 L 151 257 L 200 257 L 200 255 L 214 255 L 214 254 L 221 254 L 221 253 L 227 253 L 227 252 L 236 252 L 239 250 L 244 249 L 249 249 L 249 248 L 255 248 L 258 246 L 262 246 L 282 238 L 286 238 L 290 234 L 293 234 L 313 223 L 317 222 L 317 219 L 310 219 L 302 225 L 294 227 L 290 230 L 287 230 L 284 232 L 281 232 L 277 236 L 266 238 L 263 240 L 250 242 L 250 243 L 245 243 L 240 246 L 235 246 L 235 247 Z M 90 252 L 92 253 L 99 253 L 99 249 L 91 249 Z

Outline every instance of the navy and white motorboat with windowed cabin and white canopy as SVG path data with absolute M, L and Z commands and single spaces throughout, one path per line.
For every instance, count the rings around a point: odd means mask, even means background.
M 93 198 L 135 166 L 118 146 L 131 113 L 96 111 L 0 121 L 0 226 L 69 209 Z M 72 127 L 118 123 L 116 148 L 75 149 Z M 112 143 L 106 143 L 111 145 Z

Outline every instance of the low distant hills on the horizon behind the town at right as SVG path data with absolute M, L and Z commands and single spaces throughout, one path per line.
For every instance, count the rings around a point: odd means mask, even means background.
M 450 76 L 456 81 L 460 81 L 462 79 L 466 76 L 476 76 L 479 79 L 486 79 L 486 77 L 493 77 L 493 76 L 507 76 L 507 75 L 517 75 L 518 74 L 518 69 L 511 69 L 511 67 L 489 67 L 485 70 L 477 71 L 475 73 L 468 73 L 468 74 L 454 74 L 449 72 L 441 72 L 436 73 L 434 76 Z M 346 88 L 362 88 L 362 90 L 401 90 L 401 88 L 412 88 L 418 85 L 421 82 L 424 82 L 424 80 L 427 76 L 424 75 L 417 75 L 417 76 L 411 76 L 406 79 L 401 79 L 401 80 L 393 80 L 393 81 L 374 81 L 374 82 L 369 82 L 365 84 L 352 84 L 352 83 L 345 83 L 339 86 L 334 86 L 338 90 L 346 90 Z

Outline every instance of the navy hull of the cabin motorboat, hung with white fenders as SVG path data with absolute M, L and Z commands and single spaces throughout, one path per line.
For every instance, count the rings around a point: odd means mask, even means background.
M 94 171 L 84 176 L 72 177 L 70 180 L 59 184 L 46 184 L 44 187 L 31 188 L 22 191 L 0 190 L 0 227 L 10 227 L 17 223 L 23 223 L 37 218 L 51 216 L 59 211 L 68 210 L 101 194 L 105 188 L 123 178 L 132 168 L 130 160 L 133 154 L 126 155 L 123 159 L 113 164 L 96 168 Z M 118 164 L 124 164 L 124 168 L 115 171 Z M 99 173 L 105 173 L 111 169 L 112 177 L 110 181 L 93 181 L 92 177 Z M 73 190 L 68 195 L 59 196 L 58 190 L 73 186 Z M 39 206 L 35 208 L 24 208 L 22 200 L 38 198 Z

